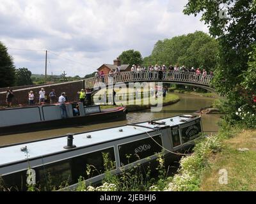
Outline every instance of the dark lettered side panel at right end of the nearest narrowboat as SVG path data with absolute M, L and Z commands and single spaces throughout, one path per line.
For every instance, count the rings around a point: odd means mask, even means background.
M 182 143 L 190 142 L 191 140 L 195 140 L 199 136 L 198 133 L 202 132 L 200 119 L 196 120 L 196 123 L 188 126 L 186 128 L 182 128 Z

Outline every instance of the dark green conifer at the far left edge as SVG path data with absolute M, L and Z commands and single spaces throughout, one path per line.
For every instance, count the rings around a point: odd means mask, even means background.
M 0 41 L 0 87 L 11 87 L 15 84 L 15 66 L 7 48 Z

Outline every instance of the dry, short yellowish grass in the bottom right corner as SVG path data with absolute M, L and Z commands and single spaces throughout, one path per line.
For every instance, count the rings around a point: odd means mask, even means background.
M 256 191 L 256 130 L 223 141 L 223 150 L 209 157 L 208 164 L 202 173 L 200 191 Z M 225 184 L 219 182 L 220 170 L 227 170 Z

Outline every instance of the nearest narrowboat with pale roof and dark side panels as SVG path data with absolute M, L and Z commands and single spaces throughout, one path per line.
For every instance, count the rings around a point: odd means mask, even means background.
M 103 154 L 115 164 L 113 174 L 156 161 L 159 154 L 171 164 L 180 158 L 175 152 L 193 147 L 201 132 L 200 117 L 179 115 L 7 145 L 0 147 L 1 186 L 26 191 L 27 182 L 31 182 L 28 176 L 42 189 L 47 189 L 49 180 L 54 186 L 66 181 L 68 189 L 75 189 L 81 176 L 87 184 L 97 184 L 106 172 Z M 86 175 L 88 165 L 97 170 L 90 176 Z

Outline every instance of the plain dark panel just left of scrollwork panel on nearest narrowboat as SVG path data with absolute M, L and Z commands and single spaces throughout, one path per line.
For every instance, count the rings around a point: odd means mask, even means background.
M 107 159 L 104 160 L 104 156 Z M 77 182 L 80 176 L 84 177 L 84 179 L 89 179 L 104 173 L 106 171 L 104 163 L 108 164 L 109 170 L 116 168 L 113 147 L 74 157 L 72 159 L 72 180 Z

